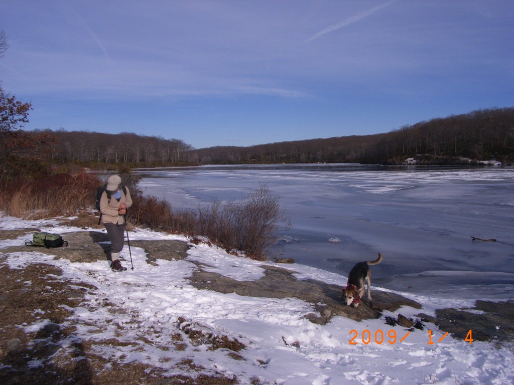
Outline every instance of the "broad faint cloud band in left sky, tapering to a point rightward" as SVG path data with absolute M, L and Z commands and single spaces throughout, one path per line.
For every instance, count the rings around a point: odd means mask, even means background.
M 38 63 L 22 67 L 24 73 L 21 73 L 0 62 L 0 69 L 5 67 L 18 75 L 9 76 L 11 83 L 16 81 L 10 89 L 22 93 L 66 94 L 68 97 L 80 93 L 86 99 L 95 95 L 95 98 L 117 100 L 179 100 L 231 95 L 284 99 L 310 97 L 303 87 L 287 86 L 259 74 L 227 73 L 222 65 L 217 68 L 210 63 L 188 66 L 134 57 L 130 61 L 116 58 L 106 66 L 104 57 L 96 52 L 16 50 L 15 53 L 23 63 Z

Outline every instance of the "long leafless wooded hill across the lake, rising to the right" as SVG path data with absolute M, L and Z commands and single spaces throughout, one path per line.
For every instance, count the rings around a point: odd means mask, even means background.
M 188 151 L 206 163 L 350 162 L 396 164 L 416 157 L 426 163 L 514 162 L 514 108 L 477 110 L 404 126 L 388 133 L 270 143 L 251 147 L 210 147 Z

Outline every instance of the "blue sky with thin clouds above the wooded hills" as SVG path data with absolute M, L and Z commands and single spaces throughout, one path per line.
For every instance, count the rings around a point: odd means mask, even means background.
M 514 106 L 511 0 L 3 0 L 26 129 L 196 148 L 388 132 Z

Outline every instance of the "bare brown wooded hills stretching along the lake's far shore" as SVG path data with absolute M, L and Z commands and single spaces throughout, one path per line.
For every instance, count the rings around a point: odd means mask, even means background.
M 48 131 L 45 131 L 48 132 Z M 261 163 L 418 164 L 514 163 L 514 107 L 476 110 L 372 135 L 195 149 L 177 139 L 50 131 L 58 162 L 133 166 Z M 179 131 L 177 130 L 177 134 Z

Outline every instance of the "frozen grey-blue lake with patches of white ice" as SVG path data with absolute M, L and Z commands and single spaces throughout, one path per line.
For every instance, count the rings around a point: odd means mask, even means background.
M 134 172 L 143 176 L 145 195 L 176 208 L 239 200 L 266 185 L 292 223 L 279 232 L 272 259 L 294 258 L 347 276 L 356 262 L 380 252 L 375 286 L 514 297 L 514 167 L 298 164 Z

